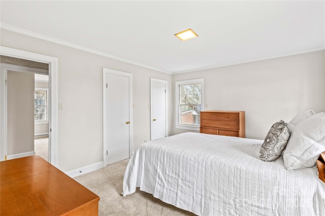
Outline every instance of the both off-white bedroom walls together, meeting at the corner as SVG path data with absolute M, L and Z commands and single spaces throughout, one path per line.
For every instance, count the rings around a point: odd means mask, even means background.
M 246 137 L 299 112 L 325 111 L 324 51 L 168 75 L 1 29 L 1 45 L 58 58 L 58 167 L 74 170 L 103 160 L 102 68 L 133 74 L 135 150 L 150 139 L 150 77 L 168 81 L 169 135 L 175 129 L 175 81 L 205 79 L 208 110 L 246 111 Z M 173 82 L 172 82 L 173 81 Z

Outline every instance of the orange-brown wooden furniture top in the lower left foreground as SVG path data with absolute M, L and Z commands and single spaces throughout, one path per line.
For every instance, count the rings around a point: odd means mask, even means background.
M 99 196 L 39 156 L 0 162 L 0 215 L 98 215 Z

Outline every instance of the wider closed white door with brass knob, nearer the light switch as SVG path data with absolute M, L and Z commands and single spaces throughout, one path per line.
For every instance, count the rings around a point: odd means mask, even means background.
M 104 131 L 105 165 L 130 157 L 132 132 L 132 74 L 103 69 L 106 91 L 104 112 L 106 131 Z

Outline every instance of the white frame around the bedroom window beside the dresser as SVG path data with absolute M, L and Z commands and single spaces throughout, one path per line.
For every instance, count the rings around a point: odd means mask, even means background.
M 204 111 L 204 79 L 194 79 L 194 80 L 183 80 L 183 81 L 176 81 L 175 82 L 175 128 L 177 129 L 185 129 L 185 130 L 200 130 L 200 125 L 194 124 L 180 124 L 179 123 L 179 85 L 186 85 L 186 84 L 194 84 L 200 83 L 201 84 L 201 107 L 200 112 Z

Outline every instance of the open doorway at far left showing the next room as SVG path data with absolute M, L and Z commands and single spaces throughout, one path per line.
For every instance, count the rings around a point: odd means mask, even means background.
M 12 63 L 1 63 L 6 80 L 7 154 L 5 159 L 36 154 L 49 161 L 48 64 L 21 61 L 6 56 L 1 56 L 1 61 Z M 40 137 L 47 137 L 47 139 L 35 140 Z

